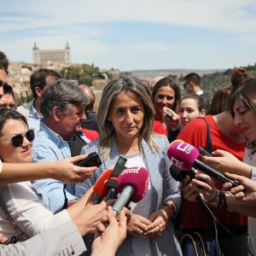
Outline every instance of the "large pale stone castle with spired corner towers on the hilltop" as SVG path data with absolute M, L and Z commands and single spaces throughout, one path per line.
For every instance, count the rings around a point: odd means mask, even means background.
M 33 62 L 35 64 L 70 63 L 70 47 L 67 43 L 65 49 L 38 49 L 35 42 L 32 48 Z

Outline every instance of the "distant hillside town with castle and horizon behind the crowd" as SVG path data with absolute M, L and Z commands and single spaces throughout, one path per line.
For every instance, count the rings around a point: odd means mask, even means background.
M 65 79 L 71 79 L 74 84 L 89 84 L 93 90 L 99 91 L 101 94 L 102 89 L 108 83 L 109 79 L 119 76 L 121 73 L 127 73 L 136 76 L 138 79 L 147 80 L 149 83 L 156 76 L 170 76 L 177 81 L 183 78 L 183 75 L 191 72 L 189 69 L 162 69 L 162 70 L 132 70 L 132 71 L 119 71 L 119 69 L 104 70 L 99 67 L 94 67 L 92 64 L 81 64 L 72 62 L 72 49 L 68 42 L 63 49 L 40 49 L 38 44 L 34 42 L 32 47 L 32 63 L 26 62 L 10 62 L 9 64 L 9 84 L 15 90 L 17 96 L 20 97 L 21 102 L 26 102 L 31 96 L 29 80 L 31 74 L 39 68 L 54 69 Z M 79 75 L 73 75 L 74 71 Z M 90 72 L 87 73 L 87 72 Z M 224 77 L 224 70 L 193 70 L 201 77 L 221 76 Z M 227 73 L 228 75 L 229 73 Z M 83 77 L 84 79 L 80 77 Z M 228 81 L 228 77 L 220 79 L 218 84 L 206 84 L 209 90 L 217 89 L 223 86 Z M 207 79 L 209 81 L 209 79 Z M 223 82 L 224 81 L 224 82 Z M 224 84 L 223 84 L 224 83 Z M 97 96 L 96 96 L 97 98 Z M 99 100 L 99 99 L 98 99 Z M 96 99 L 96 105 L 98 100 Z

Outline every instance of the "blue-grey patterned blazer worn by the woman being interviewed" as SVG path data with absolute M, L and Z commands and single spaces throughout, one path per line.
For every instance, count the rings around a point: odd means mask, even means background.
M 146 160 L 146 167 L 152 186 L 153 198 L 150 212 L 155 212 L 163 207 L 166 201 L 174 201 L 177 209 L 179 209 L 181 205 L 181 195 L 177 189 L 178 183 L 170 175 L 169 168 L 171 162 L 166 155 L 169 142 L 166 136 L 161 135 L 155 135 L 154 142 L 159 146 L 159 152 L 153 152 L 148 146 L 148 143 L 144 140 L 142 143 L 143 156 Z M 85 145 L 81 153 L 84 154 L 93 151 L 99 154 L 99 140 Z M 90 179 L 85 180 L 84 183 L 77 184 L 76 195 L 84 195 L 84 192 L 96 183 L 97 177 L 99 177 L 106 168 L 115 165 L 118 158 L 118 148 L 116 144 L 113 143 L 108 160 L 102 160 L 102 166 L 97 169 Z M 131 255 L 132 239 L 133 236 L 128 235 L 124 243 L 119 247 L 119 251 L 116 255 Z M 168 226 L 161 236 L 150 237 L 150 245 L 154 255 L 182 255 L 177 236 L 172 226 L 172 220 L 169 220 Z

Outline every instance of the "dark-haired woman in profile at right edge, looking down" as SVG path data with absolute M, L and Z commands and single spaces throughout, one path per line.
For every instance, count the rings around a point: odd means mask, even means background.
M 230 154 L 224 150 L 216 150 L 212 152 L 214 157 L 204 157 L 207 164 L 214 166 L 219 172 L 230 172 L 235 173 L 235 175 L 230 175 L 231 178 L 236 178 L 236 175 L 242 175 L 245 177 L 252 178 L 256 180 L 256 78 L 247 79 L 245 84 L 238 87 L 230 95 L 230 113 L 234 117 L 235 124 L 239 127 L 241 133 L 247 138 L 247 148 L 246 155 L 243 162 L 236 159 L 233 154 Z M 205 178 L 209 181 L 209 177 L 199 177 Z M 209 183 L 210 184 L 210 183 Z M 199 192 L 208 193 L 210 198 L 215 195 L 219 195 L 217 189 L 212 189 L 206 184 L 197 183 L 194 180 L 193 189 L 197 190 L 196 187 L 202 185 L 202 189 Z M 204 195 L 205 195 L 204 193 Z M 218 194 L 216 194 L 218 193 Z M 246 194 L 246 191 L 242 191 Z M 231 195 L 224 194 L 227 201 L 227 208 L 231 211 L 242 212 L 247 214 L 247 205 L 243 201 L 243 204 L 238 204 Z M 219 205 L 218 196 L 214 201 L 215 205 Z M 250 215 L 250 214 L 249 214 Z M 248 234 L 250 238 L 250 246 L 253 255 L 256 254 L 256 220 L 255 218 L 248 218 Z

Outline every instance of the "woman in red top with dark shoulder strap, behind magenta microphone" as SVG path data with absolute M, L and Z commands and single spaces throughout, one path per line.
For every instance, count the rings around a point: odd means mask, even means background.
M 229 101 L 229 98 L 226 101 Z M 234 119 L 228 109 L 216 115 L 207 115 L 204 119 L 192 120 L 178 134 L 177 139 L 181 139 L 195 148 L 205 148 L 209 153 L 217 149 L 223 149 L 234 154 L 240 160 L 245 154 L 246 138 L 241 134 L 238 125 L 234 124 Z M 221 183 L 216 182 L 218 189 L 221 188 L 221 185 Z M 191 177 L 187 176 L 183 180 L 184 200 L 183 211 L 181 212 L 181 228 L 189 234 L 199 231 L 202 236 L 208 236 L 209 241 L 214 243 L 216 236 L 213 219 L 200 202 L 188 200 L 190 186 Z M 237 241 L 247 247 L 247 217 L 223 209 L 215 208 L 213 210 L 215 217 L 236 236 L 236 238 L 230 237 L 224 229 L 221 227 L 218 229 L 218 242 L 221 252 L 224 255 L 244 255 L 244 249 L 240 247 Z M 186 212 L 189 212 L 189 215 Z

